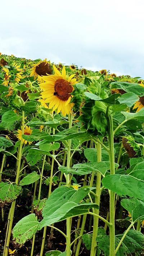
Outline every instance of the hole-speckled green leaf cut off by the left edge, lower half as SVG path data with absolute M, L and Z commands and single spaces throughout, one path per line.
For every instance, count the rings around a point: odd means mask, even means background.
M 0 204 L 5 202 L 12 202 L 19 196 L 22 187 L 13 183 L 3 182 L 0 183 Z

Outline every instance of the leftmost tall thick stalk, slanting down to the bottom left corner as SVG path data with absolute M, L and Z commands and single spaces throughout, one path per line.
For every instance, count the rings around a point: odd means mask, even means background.
M 22 135 L 23 134 L 24 134 L 24 111 L 22 111 Z M 19 172 L 21 170 L 22 146 L 23 146 L 23 140 L 21 139 L 21 144 L 19 146 L 19 156 L 18 156 L 18 161 L 17 161 L 17 175 L 16 175 L 16 179 L 15 179 L 15 183 L 17 185 L 18 185 L 18 181 L 19 181 Z M 11 213 L 10 213 L 8 236 L 6 238 L 6 246 L 5 246 L 5 250 L 4 250 L 3 256 L 7 256 L 8 255 L 9 241 L 10 241 L 10 235 L 11 235 L 12 224 L 13 224 L 14 209 L 15 209 L 15 201 L 13 201 L 12 205 L 11 205 Z

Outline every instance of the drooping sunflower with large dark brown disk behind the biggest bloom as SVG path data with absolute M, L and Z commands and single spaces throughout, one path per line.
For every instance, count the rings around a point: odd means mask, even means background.
M 51 75 L 51 73 L 50 61 L 44 59 L 33 65 L 30 76 L 34 76 L 34 79 L 36 79 L 38 75 L 46 76 L 47 74 Z

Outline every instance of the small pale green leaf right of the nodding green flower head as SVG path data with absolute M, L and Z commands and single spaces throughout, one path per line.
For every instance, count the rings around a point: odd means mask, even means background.
M 118 101 L 121 104 L 126 104 L 127 107 L 131 107 L 138 99 L 138 95 L 134 93 L 125 93 L 121 95 L 121 98 L 118 99 Z

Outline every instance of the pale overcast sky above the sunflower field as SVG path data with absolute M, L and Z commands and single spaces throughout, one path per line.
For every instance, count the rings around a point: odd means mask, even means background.
M 7 0 L 0 52 L 144 78 L 144 0 Z

